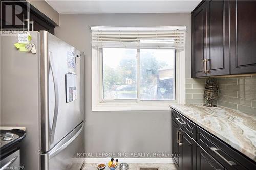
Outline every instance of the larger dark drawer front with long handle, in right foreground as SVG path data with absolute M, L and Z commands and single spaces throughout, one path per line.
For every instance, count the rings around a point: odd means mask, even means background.
M 197 126 L 197 143 L 226 169 L 256 169 L 255 162 L 199 126 Z

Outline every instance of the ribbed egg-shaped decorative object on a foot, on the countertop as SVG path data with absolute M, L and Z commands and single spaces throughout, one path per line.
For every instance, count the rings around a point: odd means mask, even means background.
M 218 96 L 219 88 L 214 80 L 212 80 L 212 78 L 209 78 L 204 88 L 204 99 L 207 102 L 207 104 L 204 104 L 204 106 L 217 107 L 216 105 L 212 104 L 212 102 L 214 102 L 214 100 L 216 100 Z

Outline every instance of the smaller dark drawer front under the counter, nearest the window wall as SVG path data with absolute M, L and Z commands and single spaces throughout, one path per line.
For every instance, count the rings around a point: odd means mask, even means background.
M 191 138 L 196 140 L 196 124 L 172 109 L 172 119 L 184 130 Z

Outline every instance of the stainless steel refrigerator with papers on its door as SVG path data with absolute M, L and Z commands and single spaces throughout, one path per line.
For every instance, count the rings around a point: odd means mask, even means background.
M 80 169 L 84 152 L 84 56 L 47 31 L 30 32 L 22 52 L 18 34 L 1 35 L 1 126 L 25 126 L 25 169 Z M 27 46 L 28 47 L 28 46 Z

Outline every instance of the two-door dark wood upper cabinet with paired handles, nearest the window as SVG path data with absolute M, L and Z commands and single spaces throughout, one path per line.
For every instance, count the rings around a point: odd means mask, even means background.
M 202 1 L 192 12 L 192 77 L 230 74 L 229 2 Z

